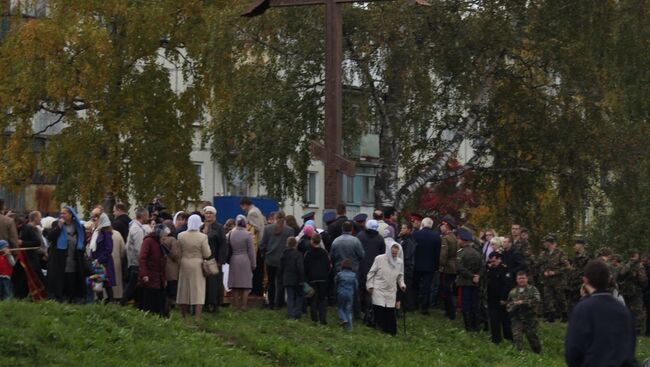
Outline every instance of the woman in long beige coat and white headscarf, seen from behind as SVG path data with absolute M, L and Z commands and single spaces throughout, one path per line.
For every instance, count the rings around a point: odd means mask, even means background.
M 200 232 L 201 217 L 194 214 L 187 222 L 187 231 L 178 235 L 181 246 L 181 262 L 178 273 L 178 294 L 176 303 L 181 306 L 181 314 L 187 316 L 188 306 L 195 308 L 194 316 L 201 318 L 205 304 L 205 276 L 203 259 L 210 257 L 208 236 Z

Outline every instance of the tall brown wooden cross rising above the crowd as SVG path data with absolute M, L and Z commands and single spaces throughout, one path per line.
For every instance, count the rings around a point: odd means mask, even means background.
M 325 208 L 335 208 L 341 201 L 339 173 L 354 176 L 354 161 L 345 158 L 342 138 L 342 56 L 343 17 L 341 4 L 393 0 L 257 0 L 242 16 L 254 17 L 273 7 L 325 5 L 325 139 L 312 142 L 311 153 L 325 165 Z M 411 3 L 429 5 L 426 0 Z

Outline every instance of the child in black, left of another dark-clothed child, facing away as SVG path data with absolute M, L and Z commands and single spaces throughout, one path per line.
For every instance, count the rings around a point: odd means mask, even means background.
M 305 282 L 304 258 L 297 246 L 295 237 L 287 239 L 287 249 L 282 254 L 278 269 L 278 276 L 287 292 L 287 316 L 295 320 L 302 315 L 302 287 Z

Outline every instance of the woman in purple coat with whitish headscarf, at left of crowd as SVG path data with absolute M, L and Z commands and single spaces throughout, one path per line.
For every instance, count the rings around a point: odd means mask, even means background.
M 104 265 L 106 269 L 106 281 L 104 290 L 108 296 L 108 302 L 113 301 L 113 287 L 115 286 L 115 266 L 113 265 L 113 228 L 111 220 L 106 213 L 102 213 L 97 221 L 97 227 L 90 239 L 90 256 Z M 102 293 L 98 293 L 99 299 L 103 298 Z

